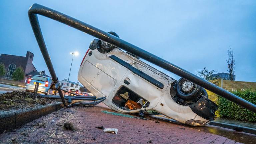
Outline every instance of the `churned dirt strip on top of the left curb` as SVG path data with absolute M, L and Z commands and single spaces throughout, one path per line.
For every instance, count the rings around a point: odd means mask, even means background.
M 33 106 L 35 104 L 45 105 L 47 99 L 41 98 L 38 93 L 24 91 L 13 91 L 0 94 L 0 110 L 20 106 Z

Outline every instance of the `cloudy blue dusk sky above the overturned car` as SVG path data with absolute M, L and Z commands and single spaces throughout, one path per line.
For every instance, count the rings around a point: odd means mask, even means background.
M 206 67 L 227 72 L 229 47 L 234 51 L 237 81 L 256 82 L 256 1 L 135 1 L 135 0 L 22 0 L 1 1 L 0 53 L 34 53 L 38 71 L 49 71 L 34 37 L 27 11 L 38 3 L 149 51 L 191 73 Z M 48 52 L 59 80 L 77 81 L 80 63 L 92 36 L 38 16 Z M 167 75 L 178 79 L 166 70 Z

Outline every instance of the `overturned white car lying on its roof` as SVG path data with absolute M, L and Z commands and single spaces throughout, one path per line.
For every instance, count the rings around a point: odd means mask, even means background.
M 95 96 L 106 97 L 104 104 L 122 113 L 143 116 L 154 110 L 184 124 L 204 126 L 214 120 L 218 109 L 202 87 L 183 78 L 176 81 L 99 39 L 91 42 L 78 80 Z

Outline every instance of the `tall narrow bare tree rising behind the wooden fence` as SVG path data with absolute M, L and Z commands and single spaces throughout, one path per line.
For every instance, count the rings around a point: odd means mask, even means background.
M 231 47 L 229 47 L 228 49 L 228 57 L 226 58 L 226 61 L 228 63 L 228 72 L 230 75 L 230 80 L 234 80 L 233 79 L 233 75 L 235 73 L 235 59 L 233 57 L 233 51 L 231 49 Z

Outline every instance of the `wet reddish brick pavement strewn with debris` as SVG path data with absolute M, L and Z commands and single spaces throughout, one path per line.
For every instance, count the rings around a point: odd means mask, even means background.
M 238 143 L 223 136 L 157 120 L 142 120 L 102 113 L 105 107 L 63 108 L 34 120 L 21 128 L 0 135 L 1 143 Z M 75 131 L 63 129 L 72 122 Z M 95 128 L 117 128 L 118 133 L 104 133 Z M 179 127 L 179 128 L 178 128 Z M 185 129 L 182 129 L 185 128 Z

